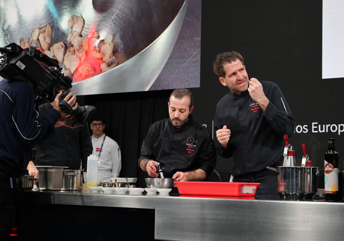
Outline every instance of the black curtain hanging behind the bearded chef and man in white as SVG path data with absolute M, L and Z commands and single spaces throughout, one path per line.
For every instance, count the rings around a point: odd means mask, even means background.
M 137 159 L 151 124 L 169 117 L 171 90 L 78 96 L 78 103 L 96 107 L 95 115 L 105 119 L 104 132 L 121 149 L 120 177 L 137 177 L 137 186 L 146 187 L 146 172 L 139 170 Z M 92 134 L 92 130 L 90 130 Z

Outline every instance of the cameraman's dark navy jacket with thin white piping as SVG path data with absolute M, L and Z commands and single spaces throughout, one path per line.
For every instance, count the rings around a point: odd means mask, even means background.
M 0 82 L 0 172 L 12 177 L 24 175 L 31 146 L 53 135 L 61 115 L 52 108 L 37 119 L 38 99 L 32 86 L 24 81 Z

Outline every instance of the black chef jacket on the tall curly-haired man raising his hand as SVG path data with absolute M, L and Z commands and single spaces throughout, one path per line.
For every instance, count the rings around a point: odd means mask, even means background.
M 261 81 L 269 104 L 263 112 L 249 92 L 225 95 L 216 106 L 215 130 L 224 125 L 230 129 L 228 147 L 217 148 L 223 157 L 234 159 L 233 176 L 257 172 L 267 166 L 281 166 L 283 161 L 283 135 L 291 137 L 295 121 L 279 87 Z

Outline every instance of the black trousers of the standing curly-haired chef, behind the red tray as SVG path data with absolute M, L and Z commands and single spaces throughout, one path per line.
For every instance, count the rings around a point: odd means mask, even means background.
M 233 182 L 259 182 L 256 196 L 278 196 L 277 174 L 269 170 L 249 172 L 233 178 Z

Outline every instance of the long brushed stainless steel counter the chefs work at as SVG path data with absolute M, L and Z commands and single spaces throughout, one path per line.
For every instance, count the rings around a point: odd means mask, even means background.
M 159 240 L 343 240 L 344 203 L 26 191 L 28 203 L 155 210 Z M 276 199 L 276 200 L 273 200 Z

